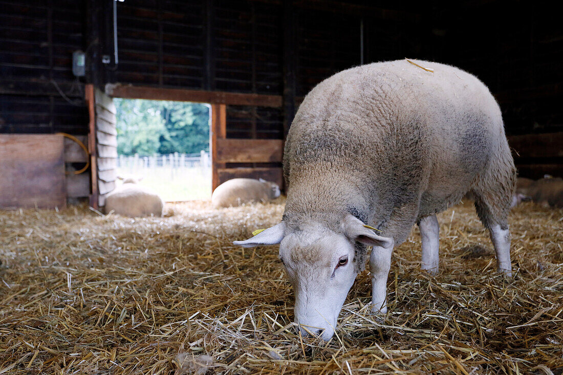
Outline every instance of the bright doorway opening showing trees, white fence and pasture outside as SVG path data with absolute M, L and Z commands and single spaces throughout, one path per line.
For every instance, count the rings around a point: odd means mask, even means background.
M 166 202 L 209 199 L 211 106 L 184 101 L 114 99 L 117 184 L 134 177 Z

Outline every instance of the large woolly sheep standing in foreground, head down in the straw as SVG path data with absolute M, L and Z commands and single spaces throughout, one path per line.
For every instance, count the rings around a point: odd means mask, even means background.
M 414 64 L 413 64 L 414 63 Z M 423 68 L 422 68 L 423 67 Z M 387 311 L 395 245 L 417 223 L 422 269 L 437 272 L 444 211 L 472 191 L 498 270 L 511 276 L 507 216 L 516 171 L 501 110 L 479 79 L 427 61 L 388 61 L 337 73 L 303 100 L 284 152 L 283 220 L 248 240 L 280 244 L 295 320 L 334 334 L 367 245 L 372 310 Z M 366 227 L 369 225 L 374 230 Z

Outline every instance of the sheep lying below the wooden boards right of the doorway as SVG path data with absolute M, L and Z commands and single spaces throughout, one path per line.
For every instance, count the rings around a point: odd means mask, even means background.
M 254 178 L 233 178 L 217 186 L 211 196 L 215 208 L 238 207 L 243 203 L 268 202 L 280 196 L 280 188 L 274 182 Z

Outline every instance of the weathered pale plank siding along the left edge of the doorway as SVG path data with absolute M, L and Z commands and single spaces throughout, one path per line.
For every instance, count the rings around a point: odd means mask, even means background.
M 95 90 L 97 181 L 99 206 L 105 206 L 105 197 L 115 189 L 117 179 L 117 119 L 113 99 Z

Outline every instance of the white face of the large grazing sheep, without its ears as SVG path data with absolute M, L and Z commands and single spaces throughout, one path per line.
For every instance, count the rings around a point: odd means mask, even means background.
M 330 340 L 356 278 L 354 245 L 343 234 L 307 230 L 285 236 L 279 253 L 295 291 L 295 322 L 302 334 Z

